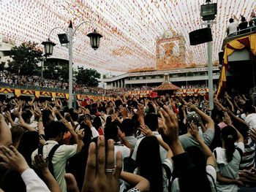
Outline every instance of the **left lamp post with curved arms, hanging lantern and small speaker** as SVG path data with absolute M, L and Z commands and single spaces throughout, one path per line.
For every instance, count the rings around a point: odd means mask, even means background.
M 72 26 L 72 21 L 69 22 L 69 28 L 68 28 L 68 34 L 59 34 L 59 40 L 61 42 L 61 44 L 66 44 L 69 47 L 69 108 L 72 108 L 72 89 L 73 89 L 73 71 L 72 71 L 72 60 L 73 60 L 73 37 L 75 34 L 75 31 L 77 31 L 77 29 L 83 24 L 83 23 L 92 23 L 91 21 L 83 21 L 82 23 L 80 23 L 74 30 L 73 30 L 73 26 Z M 59 27 L 56 27 L 59 28 Z M 56 28 L 53 28 L 52 31 L 50 31 L 50 34 L 53 32 L 53 30 L 55 30 Z M 61 30 L 63 30 L 61 28 Z M 64 31 L 64 30 L 63 30 Z M 48 36 L 48 45 L 50 45 L 50 34 Z M 97 50 L 97 48 L 99 47 L 99 39 L 102 37 L 101 34 L 98 34 L 97 31 L 94 29 L 94 32 L 90 33 L 87 35 L 90 38 L 91 41 L 91 47 L 94 50 Z

